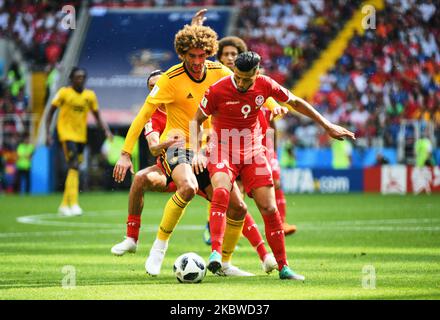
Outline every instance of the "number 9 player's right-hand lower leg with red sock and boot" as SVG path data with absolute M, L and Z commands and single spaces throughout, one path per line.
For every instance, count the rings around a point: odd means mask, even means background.
M 288 265 L 284 241 L 284 230 L 278 212 L 273 186 L 261 186 L 252 189 L 252 197 L 260 210 L 267 242 L 269 243 L 278 263 L 281 279 L 304 280 L 304 277 L 295 274 Z

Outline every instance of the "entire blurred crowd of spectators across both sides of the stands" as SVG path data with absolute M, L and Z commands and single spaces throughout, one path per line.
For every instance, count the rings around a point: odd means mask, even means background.
M 235 5 L 235 34 L 258 52 L 265 73 L 291 87 L 342 29 L 361 1 L 324 0 L 89 0 L 90 6 L 164 7 Z M 70 32 L 63 5 L 76 1 L 0 0 L 0 39 L 12 40 L 32 70 L 53 71 Z M 355 147 L 398 146 L 404 121 L 423 131 L 433 124 L 440 141 L 440 14 L 433 0 L 386 0 L 376 28 L 355 34 L 336 65 L 321 77 L 313 105 L 358 137 Z M 0 80 L 0 172 L 29 135 L 29 87 L 23 65 L 12 63 Z M 296 147 L 328 147 L 318 127 L 299 116 L 278 122 L 292 158 Z M 414 132 L 408 134 L 414 136 Z M 294 162 L 294 161 L 293 161 Z M 293 163 L 288 161 L 290 165 Z M 1 173 L 0 173 L 1 174 Z M 4 174 L 3 174 L 4 175 Z M 4 182 L 5 179 L 2 179 Z M 1 188 L 1 186 L 0 186 Z M 5 186 L 3 186 L 5 188 Z

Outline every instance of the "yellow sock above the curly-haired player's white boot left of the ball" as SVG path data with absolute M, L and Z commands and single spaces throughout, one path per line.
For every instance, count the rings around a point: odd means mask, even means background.
M 157 239 L 167 241 L 185 211 L 188 202 L 176 192 L 165 205 L 162 221 L 157 231 Z

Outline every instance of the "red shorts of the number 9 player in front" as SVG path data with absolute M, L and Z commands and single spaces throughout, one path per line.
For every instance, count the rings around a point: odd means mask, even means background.
M 240 176 L 244 190 L 249 197 L 252 197 L 253 189 L 273 186 L 272 171 L 264 152 L 254 153 L 252 159 L 239 161 L 238 164 L 231 160 L 232 157 L 227 154 L 219 155 L 218 161 L 208 162 L 209 177 L 212 178 L 217 172 L 224 172 L 234 183 L 235 179 Z

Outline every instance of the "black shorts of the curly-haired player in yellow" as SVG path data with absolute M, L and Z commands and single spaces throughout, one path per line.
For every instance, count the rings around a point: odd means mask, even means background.
M 157 158 L 157 164 L 167 177 L 167 185 L 173 181 L 171 174 L 174 168 L 182 163 L 191 165 L 193 157 L 194 152 L 188 149 L 169 148 L 162 151 L 161 155 Z M 200 190 L 205 190 L 211 184 L 207 169 L 199 174 L 195 174 L 195 176 Z

